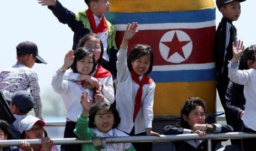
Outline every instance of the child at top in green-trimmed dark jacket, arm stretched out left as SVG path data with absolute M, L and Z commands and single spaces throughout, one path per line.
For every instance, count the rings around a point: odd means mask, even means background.
M 108 0 L 85 0 L 87 10 L 74 14 L 57 0 L 38 0 L 41 5 L 48 5 L 59 22 L 67 24 L 74 32 L 73 47 L 77 49 L 79 39 L 85 34 L 96 33 L 104 45 L 104 55 L 101 62 L 102 67 L 110 71 L 116 77 L 116 31 L 114 26 L 104 16 L 110 9 Z

